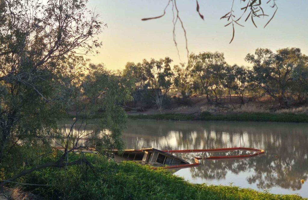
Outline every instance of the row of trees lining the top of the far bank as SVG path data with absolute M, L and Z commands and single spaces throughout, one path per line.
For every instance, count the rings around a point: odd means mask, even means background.
M 168 57 L 128 62 L 122 75 L 135 83 L 135 102 L 151 97 L 159 110 L 170 90 L 179 91 L 183 97 L 205 95 L 208 103 L 216 105 L 221 105 L 226 96 L 232 105 L 232 96 L 242 105 L 267 95 L 278 103 L 277 109 L 307 102 L 308 57 L 299 48 L 276 53 L 258 48 L 254 54 L 247 54 L 245 61 L 251 66 L 229 65 L 219 52 L 192 53 L 187 64 L 173 68 Z

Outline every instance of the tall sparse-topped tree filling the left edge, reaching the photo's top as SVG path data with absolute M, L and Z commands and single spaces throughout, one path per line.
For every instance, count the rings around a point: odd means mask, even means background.
M 95 53 L 104 26 L 87 0 L 1 3 L 0 159 L 20 140 L 54 130 L 67 100 L 60 79 L 69 66 L 61 63 Z

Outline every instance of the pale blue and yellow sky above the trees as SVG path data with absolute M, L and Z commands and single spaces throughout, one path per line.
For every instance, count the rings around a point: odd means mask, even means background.
M 196 12 L 195 0 L 177 0 L 179 15 L 187 33 L 189 52 L 219 51 L 224 53 L 226 61 L 232 64 L 248 66 L 244 58 L 254 53 L 256 48 L 278 50 L 285 47 L 301 48 L 308 54 L 308 1 L 276 0 L 278 11 L 266 28 L 263 26 L 274 12 L 264 3 L 264 11 L 270 17 L 240 23 L 235 26 L 235 37 L 231 44 L 232 27 L 224 25 L 221 16 L 230 11 L 232 0 L 199 0 L 200 12 L 204 21 Z M 173 64 L 187 62 L 184 32 L 180 24 L 176 26 L 176 42 L 180 58 L 172 39 L 172 10 L 169 6 L 164 17 L 148 21 L 142 18 L 163 14 L 168 0 L 89 0 L 88 8 L 100 14 L 100 20 L 107 23 L 99 39 L 103 45 L 99 54 L 88 56 L 93 63 L 104 63 L 107 69 L 124 69 L 126 62 L 142 62 L 150 58 L 170 57 Z M 244 3 L 235 0 L 234 13 L 241 15 Z

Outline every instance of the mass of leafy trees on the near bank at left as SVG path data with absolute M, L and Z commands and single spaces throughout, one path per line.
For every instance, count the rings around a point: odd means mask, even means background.
M 122 149 L 126 114 L 119 104 L 130 101 L 132 83 L 82 56 L 101 45 L 95 38 L 103 23 L 87 1 L 61 0 L 5 3 L 0 28 L 0 162 L 11 170 L 0 188 L 17 178 L 48 167 L 83 165 L 68 161 L 70 152 L 96 146 Z M 74 110 L 68 132 L 57 120 Z M 101 120 L 86 132 L 87 118 L 100 110 Z M 87 116 L 76 126 L 79 114 Z M 90 116 L 90 117 L 89 117 Z M 98 138 L 89 142 L 87 138 Z M 63 152 L 48 162 L 51 143 Z M 23 149 L 26 153 L 21 153 Z M 12 159 L 15 158 L 15 159 Z M 18 158 L 18 159 L 17 159 Z M 23 166 L 23 167 L 20 167 Z

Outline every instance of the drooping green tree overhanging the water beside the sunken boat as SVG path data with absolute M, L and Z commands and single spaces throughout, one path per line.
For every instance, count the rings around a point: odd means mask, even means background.
M 116 72 L 107 70 L 102 64 L 87 65 L 85 60 L 80 56 L 70 56 L 59 63 L 59 65 L 67 69 L 61 74 L 59 81 L 59 85 L 62 85 L 61 88 L 63 89 L 63 91 L 61 91 L 61 93 L 63 93 L 62 97 L 66 98 L 65 101 L 61 101 L 65 104 L 62 108 L 74 108 L 76 118 L 73 120 L 68 133 L 59 132 L 56 127 L 51 126 L 54 124 L 51 124 L 47 128 L 53 131 L 47 132 L 47 130 L 44 129 L 40 136 L 49 136 L 49 138 L 52 138 L 54 142 L 62 148 L 63 153 L 60 154 L 55 162 L 43 162 L 44 159 L 41 156 L 42 153 L 43 155 L 52 153 L 51 148 L 39 148 L 38 152 L 34 151 L 34 155 L 30 156 L 30 158 L 23 158 L 21 155 L 18 155 L 21 159 L 15 161 L 17 163 L 23 162 L 25 159 L 35 160 L 32 163 L 26 163 L 21 168 L 19 163 L 18 168 L 12 171 L 15 175 L 6 178 L 7 181 L 14 181 L 21 176 L 46 167 L 87 165 L 92 170 L 95 170 L 92 164 L 82 158 L 82 156 L 79 156 L 79 159 L 75 161 L 68 162 L 69 155 L 85 147 L 95 146 L 96 150 L 100 153 L 108 149 L 121 150 L 124 147 L 121 131 L 125 126 L 126 113 L 123 108 L 119 106 L 119 103 L 127 102 L 132 99 L 132 82 Z M 84 69 L 87 69 L 87 73 Z M 59 106 L 59 104 L 57 105 Z M 55 107 L 53 107 L 53 109 L 55 112 L 59 112 L 59 109 Z M 100 119 L 95 122 L 93 130 L 87 132 L 86 127 L 89 124 L 88 119 L 93 117 L 97 110 L 100 110 Z M 80 115 L 83 115 L 83 119 L 79 121 L 80 124 L 76 126 Z M 22 122 L 25 123 L 24 121 Z M 40 122 L 41 121 L 38 123 Z M 91 122 L 91 124 L 93 124 L 93 122 Z M 31 149 L 34 149 L 37 148 L 38 145 L 33 146 L 34 141 L 32 138 L 29 143 L 32 144 L 32 146 L 30 146 Z M 92 140 L 91 138 L 95 139 Z M 49 144 L 47 144 L 47 146 L 49 147 Z M 18 148 L 15 149 L 18 150 Z M 10 160 L 10 158 L 7 160 Z M 30 166 L 32 166 L 32 168 L 30 168 Z M 0 187 L 6 185 L 8 183 L 7 181 L 1 182 Z

